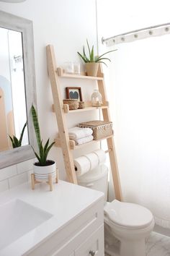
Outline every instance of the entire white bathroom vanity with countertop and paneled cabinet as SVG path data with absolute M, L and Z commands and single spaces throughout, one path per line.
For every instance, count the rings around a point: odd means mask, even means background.
M 61 180 L 53 185 L 52 192 L 47 184 L 32 190 L 27 183 L 0 193 L 0 207 L 22 205 L 25 220 L 16 229 L 10 225 L 16 226 L 15 218 L 6 221 L 0 256 L 104 256 L 104 194 Z

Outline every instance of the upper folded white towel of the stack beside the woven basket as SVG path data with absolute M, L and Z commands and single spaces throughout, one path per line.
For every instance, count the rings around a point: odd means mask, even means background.
M 68 129 L 68 135 L 71 140 L 79 140 L 83 137 L 92 135 L 93 130 L 90 128 L 73 127 Z

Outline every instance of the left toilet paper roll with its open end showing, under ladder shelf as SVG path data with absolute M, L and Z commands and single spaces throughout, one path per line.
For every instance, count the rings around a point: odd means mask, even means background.
M 76 167 L 76 176 L 81 176 L 86 174 L 87 171 L 91 168 L 91 163 L 89 158 L 86 158 L 85 155 L 80 156 L 79 158 L 75 158 L 73 160 L 74 166 Z

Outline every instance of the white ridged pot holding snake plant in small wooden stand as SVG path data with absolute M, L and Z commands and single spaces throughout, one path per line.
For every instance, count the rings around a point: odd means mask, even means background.
M 48 174 L 55 174 L 56 171 L 56 163 L 54 162 L 50 166 L 36 166 L 35 163 L 33 164 L 33 171 L 35 176 L 42 175 L 42 176 L 48 176 Z

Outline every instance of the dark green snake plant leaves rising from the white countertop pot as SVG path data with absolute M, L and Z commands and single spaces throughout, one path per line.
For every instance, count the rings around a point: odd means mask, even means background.
M 35 128 L 37 146 L 38 146 L 38 149 L 39 149 L 39 153 L 36 153 L 34 148 L 32 148 L 34 150 L 35 156 L 38 160 L 38 163 L 35 163 L 35 165 L 37 165 L 37 166 L 49 166 L 50 164 L 53 163 L 53 161 L 47 160 L 47 157 L 48 157 L 48 153 L 49 153 L 50 149 L 53 147 L 55 142 L 52 142 L 49 145 L 50 139 L 48 138 L 45 145 L 42 145 L 42 140 L 41 140 L 41 135 L 40 135 L 40 126 L 39 126 L 39 122 L 38 122 L 38 119 L 37 119 L 37 112 L 36 112 L 35 107 L 33 105 L 31 107 L 31 113 L 32 113 L 32 121 L 33 121 L 34 128 Z

